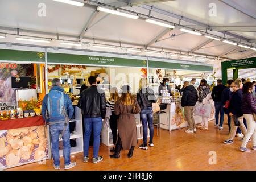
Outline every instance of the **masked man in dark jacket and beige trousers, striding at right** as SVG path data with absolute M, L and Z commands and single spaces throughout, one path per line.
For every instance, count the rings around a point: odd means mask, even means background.
M 245 124 L 243 123 L 243 112 L 242 112 L 242 90 L 240 89 L 241 80 L 236 80 L 230 85 L 230 91 L 233 92 L 230 98 L 230 103 L 228 106 L 228 114 L 232 118 L 231 130 L 229 133 L 229 139 L 225 140 L 225 144 L 233 144 L 234 137 L 236 136 L 236 131 L 238 126 L 244 134 L 247 133 Z

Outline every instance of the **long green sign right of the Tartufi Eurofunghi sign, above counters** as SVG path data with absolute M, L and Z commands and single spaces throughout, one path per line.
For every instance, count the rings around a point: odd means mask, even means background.
M 196 64 L 183 64 L 183 63 L 170 63 L 162 61 L 148 61 L 149 68 L 162 68 L 162 69 L 181 69 L 181 70 L 196 70 L 196 71 L 213 71 L 212 66 L 196 65 Z

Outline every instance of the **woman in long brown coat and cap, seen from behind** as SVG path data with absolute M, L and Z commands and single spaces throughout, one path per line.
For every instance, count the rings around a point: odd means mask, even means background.
M 120 158 L 120 151 L 129 150 L 128 157 L 133 156 L 134 147 L 137 144 L 137 127 L 134 114 L 141 111 L 136 98 L 130 93 L 130 86 L 122 86 L 122 96 L 115 103 L 114 111 L 119 115 L 117 120 L 118 139 L 115 145 L 115 153 L 110 158 Z

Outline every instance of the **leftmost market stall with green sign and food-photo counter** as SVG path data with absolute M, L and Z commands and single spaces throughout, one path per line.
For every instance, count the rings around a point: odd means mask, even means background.
M 44 53 L 0 49 L 0 170 L 48 159 Z

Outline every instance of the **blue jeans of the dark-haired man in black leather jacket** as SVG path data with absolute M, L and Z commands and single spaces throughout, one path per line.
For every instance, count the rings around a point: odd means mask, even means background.
M 100 149 L 100 135 L 102 129 L 102 119 L 84 118 L 84 157 L 89 156 L 90 135 L 93 130 L 93 157 L 98 158 L 98 150 Z

